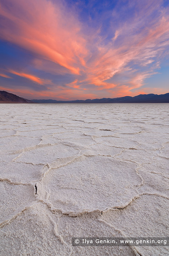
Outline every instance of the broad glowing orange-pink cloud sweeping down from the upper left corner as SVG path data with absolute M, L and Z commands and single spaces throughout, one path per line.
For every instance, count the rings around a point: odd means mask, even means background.
M 18 12 L 17 5 L 23 13 Z M 80 23 L 73 14 L 66 12 L 63 5 L 47 0 L 16 0 L 11 6 L 0 8 L 0 14 L 13 24 L 5 26 L 4 22 L 1 37 L 79 74 L 87 49 Z

